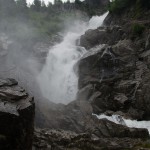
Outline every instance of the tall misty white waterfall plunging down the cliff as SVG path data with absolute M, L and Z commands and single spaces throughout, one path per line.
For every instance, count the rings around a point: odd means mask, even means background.
M 75 99 L 78 79 L 74 65 L 85 53 L 84 48 L 76 46 L 76 41 L 88 29 L 102 25 L 108 12 L 92 17 L 89 23 L 78 22 L 68 31 L 60 44 L 49 50 L 46 64 L 38 76 L 43 96 L 55 103 L 67 104 Z

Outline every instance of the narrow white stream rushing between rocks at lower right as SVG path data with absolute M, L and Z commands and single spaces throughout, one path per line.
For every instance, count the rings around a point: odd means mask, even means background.
M 94 114 L 95 115 L 95 114 Z M 126 125 L 128 127 L 134 127 L 134 128 L 146 128 L 149 131 L 150 134 L 150 121 L 137 121 L 137 120 L 130 120 L 125 119 L 119 115 L 112 115 L 112 116 L 106 116 L 106 115 L 96 115 L 98 119 L 108 119 L 109 121 L 112 121 L 117 124 Z

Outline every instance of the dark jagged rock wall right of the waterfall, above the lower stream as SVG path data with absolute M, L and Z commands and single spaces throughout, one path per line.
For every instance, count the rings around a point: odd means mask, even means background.
M 139 54 L 139 45 L 124 39 L 126 33 L 119 33 L 123 31 L 121 27 L 111 29 L 111 32 L 105 28 L 103 31 L 91 30 L 88 31 L 90 36 L 85 33 L 81 37 L 82 46 L 93 48 L 78 63 L 79 97 L 86 95 L 85 99 L 91 103 L 94 113 L 111 110 L 121 111 L 134 119 L 148 118 L 149 51 Z M 89 86 L 92 87 L 90 92 L 86 88 Z M 81 92 L 83 89 L 84 93 Z

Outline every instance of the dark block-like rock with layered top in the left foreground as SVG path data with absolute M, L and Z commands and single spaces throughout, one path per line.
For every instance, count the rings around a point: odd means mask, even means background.
M 31 150 L 34 101 L 14 79 L 0 79 L 0 149 Z

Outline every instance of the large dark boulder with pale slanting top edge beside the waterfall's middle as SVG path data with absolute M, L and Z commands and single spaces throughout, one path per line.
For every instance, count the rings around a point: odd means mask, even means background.
M 101 83 L 114 74 L 118 61 L 107 45 L 90 49 L 78 62 L 79 89 L 87 84 Z

